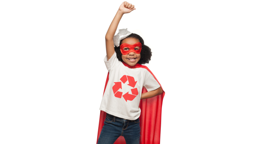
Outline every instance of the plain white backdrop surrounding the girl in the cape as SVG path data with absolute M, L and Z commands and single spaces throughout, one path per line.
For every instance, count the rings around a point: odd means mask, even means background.
M 122 2 L 1 0 L 1 144 L 96 144 Z M 143 35 L 166 92 L 161 144 L 255 144 L 256 2 L 127 2 L 118 29 Z

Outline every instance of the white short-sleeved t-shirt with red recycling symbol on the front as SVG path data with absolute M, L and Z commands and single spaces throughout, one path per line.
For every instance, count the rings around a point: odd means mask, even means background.
M 154 76 L 145 68 L 128 68 L 118 60 L 116 52 L 104 62 L 109 72 L 108 84 L 102 97 L 100 110 L 127 120 L 140 117 L 142 87 L 147 91 L 160 87 Z

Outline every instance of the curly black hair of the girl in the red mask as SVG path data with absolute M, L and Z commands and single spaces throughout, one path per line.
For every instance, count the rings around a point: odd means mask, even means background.
M 142 47 L 140 52 L 140 60 L 138 61 L 138 64 L 148 64 L 149 61 L 151 60 L 152 52 L 151 52 L 151 49 L 144 44 L 144 40 L 142 39 L 142 37 L 140 37 L 138 34 L 132 33 L 126 38 L 136 38 L 140 41 L 140 43 L 142 44 Z M 122 40 L 120 41 L 120 44 L 121 42 Z M 116 57 L 118 58 L 119 61 L 122 62 L 123 60 L 122 60 L 122 53 L 120 51 L 120 46 L 118 47 L 115 46 L 115 51 L 116 51 Z

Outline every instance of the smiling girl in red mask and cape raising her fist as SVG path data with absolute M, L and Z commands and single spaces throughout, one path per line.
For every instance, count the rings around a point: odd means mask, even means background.
M 123 14 L 133 10 L 134 5 L 123 2 L 106 33 L 104 62 L 108 76 L 100 105 L 97 144 L 160 143 L 165 92 L 154 74 L 142 65 L 150 61 L 151 50 L 127 28 L 114 36 Z

